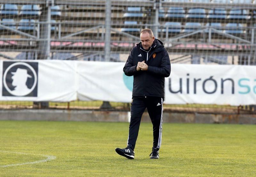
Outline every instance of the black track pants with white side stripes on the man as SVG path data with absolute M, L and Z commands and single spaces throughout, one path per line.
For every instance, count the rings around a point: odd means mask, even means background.
M 131 121 L 129 126 L 128 147 L 133 150 L 140 128 L 140 120 L 145 109 L 148 109 L 148 114 L 153 124 L 153 147 L 160 148 L 162 141 L 162 119 L 163 119 L 163 98 L 161 97 L 146 97 L 132 98 L 131 104 Z

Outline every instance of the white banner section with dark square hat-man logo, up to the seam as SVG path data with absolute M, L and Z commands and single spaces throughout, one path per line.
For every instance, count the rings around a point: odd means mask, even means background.
M 76 65 L 59 60 L 0 60 L 0 100 L 76 100 Z

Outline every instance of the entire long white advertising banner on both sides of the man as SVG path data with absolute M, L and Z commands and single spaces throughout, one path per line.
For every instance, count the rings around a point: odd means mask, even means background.
M 133 77 L 124 62 L 1 60 L 0 100 L 130 102 Z M 167 104 L 256 104 L 256 67 L 172 64 Z M 142 71 L 146 72 L 146 71 Z

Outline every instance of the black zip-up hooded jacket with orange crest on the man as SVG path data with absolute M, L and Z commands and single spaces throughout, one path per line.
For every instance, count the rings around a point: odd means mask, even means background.
M 138 62 L 145 61 L 147 71 L 137 71 Z M 148 52 L 143 49 L 141 42 L 132 48 L 124 65 L 124 74 L 133 75 L 133 97 L 157 96 L 164 98 L 164 77 L 171 73 L 170 58 L 163 43 L 155 39 Z

